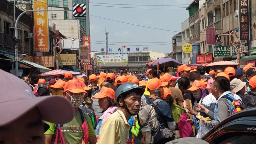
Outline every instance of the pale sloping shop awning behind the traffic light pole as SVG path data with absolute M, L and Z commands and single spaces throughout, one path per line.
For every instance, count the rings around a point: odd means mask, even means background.
M 13 59 L 14 59 L 14 54 L 11 53 L 11 52 L 0 51 L 0 54 L 6 56 L 6 57 L 9 58 L 10 60 L 13 60 Z M 41 73 L 48 72 L 48 71 L 51 71 L 51 70 L 52 70 L 52 69 L 50 69 L 50 68 L 43 67 L 43 66 L 41 66 L 41 65 L 39 65 L 39 64 L 36 64 L 36 63 L 34 63 L 34 62 L 21 59 L 20 57 L 19 57 L 19 62 L 22 63 L 22 64 L 24 64 L 24 65 L 27 65 L 27 66 L 29 66 L 29 67 L 31 67 L 31 68 L 38 68 Z

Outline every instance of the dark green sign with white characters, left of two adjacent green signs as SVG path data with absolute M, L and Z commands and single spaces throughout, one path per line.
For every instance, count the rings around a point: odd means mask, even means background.
M 231 46 L 213 46 L 213 57 L 214 58 L 230 58 L 231 57 Z

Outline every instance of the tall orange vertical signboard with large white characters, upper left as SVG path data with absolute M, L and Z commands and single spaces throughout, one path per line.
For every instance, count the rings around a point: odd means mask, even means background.
M 47 10 L 47 0 L 33 0 L 34 10 Z M 48 12 L 34 12 L 35 52 L 49 52 Z

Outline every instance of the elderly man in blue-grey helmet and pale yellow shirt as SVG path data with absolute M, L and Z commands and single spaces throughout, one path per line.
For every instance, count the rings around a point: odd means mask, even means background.
M 102 125 L 97 144 L 125 144 L 129 140 L 128 120 L 139 113 L 144 91 L 135 83 L 124 83 L 116 89 L 115 100 L 119 108 Z

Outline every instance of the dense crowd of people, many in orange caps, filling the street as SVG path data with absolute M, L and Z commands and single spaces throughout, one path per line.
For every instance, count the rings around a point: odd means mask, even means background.
M 79 78 L 66 72 L 64 79 L 41 78 L 34 85 L 27 76 L 0 73 L 0 143 L 206 143 L 197 139 L 205 134 L 200 123 L 213 128 L 256 106 L 250 64 L 209 74 L 204 66 L 183 64 L 161 75 L 148 69 L 145 78 L 125 71 Z

